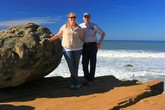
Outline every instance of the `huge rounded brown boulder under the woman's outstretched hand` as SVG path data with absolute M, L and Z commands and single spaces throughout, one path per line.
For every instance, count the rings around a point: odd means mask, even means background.
M 49 29 L 34 23 L 0 31 L 0 88 L 42 78 L 59 65 L 61 42 L 47 42 L 49 36 Z

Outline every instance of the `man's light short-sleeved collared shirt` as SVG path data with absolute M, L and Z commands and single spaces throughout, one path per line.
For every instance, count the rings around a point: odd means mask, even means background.
M 91 22 L 88 26 L 86 26 L 85 23 L 81 23 L 80 27 L 84 30 L 84 42 L 96 42 L 96 34 L 99 33 L 101 35 L 104 33 L 100 27 Z

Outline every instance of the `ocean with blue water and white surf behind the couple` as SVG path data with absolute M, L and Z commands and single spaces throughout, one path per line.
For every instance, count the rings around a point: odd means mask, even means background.
M 165 41 L 104 40 L 97 54 L 96 77 L 105 75 L 120 80 L 145 82 L 159 79 L 165 82 Z M 46 77 L 52 76 L 70 76 L 64 57 Z M 83 76 L 81 60 L 79 76 Z

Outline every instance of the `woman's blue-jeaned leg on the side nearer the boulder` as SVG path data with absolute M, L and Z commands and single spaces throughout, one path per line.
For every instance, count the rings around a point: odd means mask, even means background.
M 80 84 L 77 74 L 77 68 L 75 66 L 75 55 L 74 51 L 66 51 L 64 52 L 65 59 L 67 61 L 70 73 L 71 73 L 71 85 L 77 86 Z

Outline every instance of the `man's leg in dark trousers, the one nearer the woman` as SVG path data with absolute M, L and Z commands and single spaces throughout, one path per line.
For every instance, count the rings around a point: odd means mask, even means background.
M 88 81 L 89 80 L 89 53 L 88 53 L 88 46 L 83 45 L 83 50 L 82 50 L 82 67 L 83 67 L 83 72 L 84 72 L 84 78 Z

